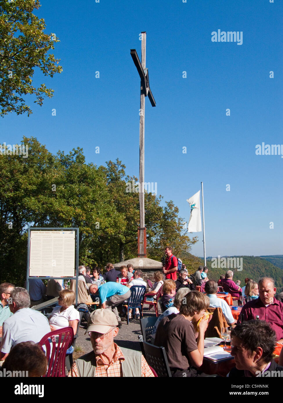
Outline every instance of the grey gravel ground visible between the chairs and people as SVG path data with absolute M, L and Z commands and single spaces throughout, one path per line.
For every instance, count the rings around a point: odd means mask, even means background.
M 159 307 L 159 314 L 161 309 Z M 155 316 L 154 311 L 150 311 L 147 308 L 143 311 L 143 316 Z M 85 323 L 83 323 L 85 324 Z M 90 338 L 88 334 L 84 334 L 85 328 L 79 329 L 78 339 L 75 347 L 80 347 L 82 351 L 74 353 L 74 359 L 80 357 L 83 354 L 92 350 Z M 114 341 L 119 347 L 126 347 L 128 349 L 140 351 L 140 343 L 138 342 L 138 335 L 141 334 L 140 321 L 138 319 L 130 319 L 130 323 L 127 325 L 127 321 L 122 321 L 122 328 L 119 329 L 119 333 L 115 337 Z

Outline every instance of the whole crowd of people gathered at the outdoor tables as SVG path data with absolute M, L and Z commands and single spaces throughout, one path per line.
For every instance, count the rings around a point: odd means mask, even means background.
M 130 298 L 131 288 L 144 287 L 146 300 L 154 303 L 159 296 L 161 315 L 152 331 L 151 343 L 165 348 L 173 377 L 205 377 L 203 364 L 205 332 L 211 316 L 208 308 L 220 309 L 223 320 L 231 326 L 231 355 L 235 368 L 229 377 L 266 376 L 269 371 L 283 371 L 283 349 L 279 362 L 273 360 L 276 345 L 283 344 L 283 303 L 272 278 L 258 282 L 246 278 L 245 287 L 233 281 L 232 270 L 220 276 L 218 282 L 209 280 L 208 268 L 199 266 L 189 275 L 187 267 L 180 268 L 172 248 L 166 247 L 162 271 L 155 271 L 154 283 L 143 280 L 143 272 L 131 264 L 116 270 L 108 263 L 105 273 L 101 268 L 79 266 L 78 295 L 80 304 L 99 298 L 99 309 L 88 315 L 86 334 L 92 351 L 75 360 L 69 372 L 78 376 L 154 376 L 143 355 L 114 343 L 122 327 L 119 307 Z M 78 330 L 80 315 L 75 309 L 76 280 L 70 289 L 64 289 L 61 280 L 49 279 L 47 287 L 42 280 L 30 280 L 29 292 L 11 283 L 0 284 L 0 366 L 2 370 L 28 371 L 29 376 L 46 373 L 47 360 L 37 343 L 50 331 L 71 327 Z M 42 287 L 43 285 L 43 287 Z M 201 286 L 201 291 L 195 291 Z M 231 307 L 218 298 L 218 289 L 235 299 L 244 297 L 239 319 L 232 315 Z M 31 309 L 42 300 L 58 297 L 49 320 Z M 277 299 L 278 296 L 278 299 Z M 155 302 L 156 303 L 156 302 Z M 212 315 L 212 314 L 211 314 Z M 130 310 L 129 319 L 140 318 L 140 312 Z M 21 355 L 20 357 L 17 357 Z M 34 357 L 30 359 L 30 356 Z M 29 358 L 23 358 L 27 357 Z M 17 366 L 18 363 L 18 366 Z M 184 375 L 185 374 L 185 375 Z M 282 372 L 283 374 L 283 372 Z

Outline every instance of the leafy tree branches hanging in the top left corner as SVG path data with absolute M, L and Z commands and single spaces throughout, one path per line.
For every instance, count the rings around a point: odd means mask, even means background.
M 32 85 L 34 69 L 38 67 L 45 76 L 61 73 L 53 54 L 54 44 L 59 42 L 55 34 L 44 33 L 44 19 L 32 12 L 38 10 L 38 0 L 0 1 L 0 116 L 9 112 L 18 115 L 32 110 L 25 104 L 23 96 L 34 94 L 38 105 L 44 97 L 51 98 L 53 90 L 41 84 Z

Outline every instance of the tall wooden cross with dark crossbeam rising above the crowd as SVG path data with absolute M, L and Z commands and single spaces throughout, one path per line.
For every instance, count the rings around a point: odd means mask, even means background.
M 149 87 L 149 73 L 145 67 L 146 32 L 141 33 L 142 59 L 138 58 L 136 49 L 131 49 L 131 56 L 140 76 L 140 173 L 139 173 L 139 202 L 140 227 L 138 228 L 138 257 L 147 257 L 147 233 L 145 228 L 145 97 L 149 97 L 152 106 L 156 106 Z

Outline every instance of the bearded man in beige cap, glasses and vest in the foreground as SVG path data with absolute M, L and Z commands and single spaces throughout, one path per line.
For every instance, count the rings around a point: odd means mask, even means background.
M 118 331 L 118 321 L 111 310 L 97 309 L 92 312 L 86 333 L 93 351 L 75 360 L 69 376 L 154 376 L 142 353 L 114 343 Z

